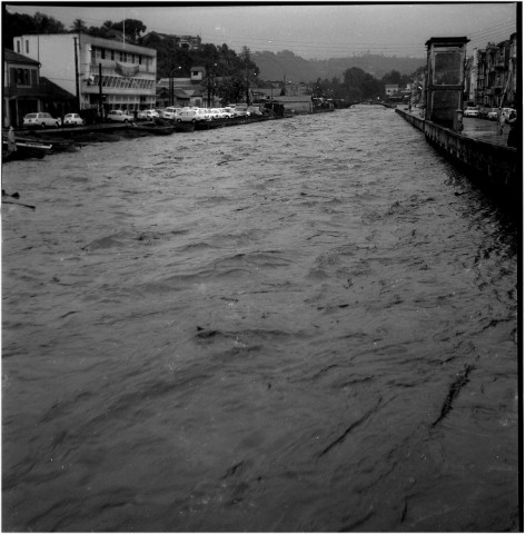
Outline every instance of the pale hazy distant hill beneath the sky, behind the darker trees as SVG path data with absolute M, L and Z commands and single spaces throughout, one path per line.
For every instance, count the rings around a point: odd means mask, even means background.
M 357 67 L 380 79 L 391 70 L 400 75 L 411 75 L 418 67 L 426 65 L 426 58 L 400 58 L 397 56 L 364 55 L 348 58 L 304 59 L 289 50 L 281 52 L 252 52 L 252 61 L 259 67 L 261 80 L 282 80 L 310 82 L 318 78 L 333 79 L 347 69 Z

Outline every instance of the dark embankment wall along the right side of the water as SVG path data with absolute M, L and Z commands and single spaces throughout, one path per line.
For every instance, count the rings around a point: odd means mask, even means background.
M 463 167 L 482 186 L 490 186 L 505 196 L 520 192 L 522 171 L 517 149 L 480 141 L 407 113 L 396 112 L 454 164 Z

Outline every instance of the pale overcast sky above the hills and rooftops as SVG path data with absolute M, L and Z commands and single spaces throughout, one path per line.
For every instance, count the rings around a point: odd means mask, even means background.
M 290 50 L 306 59 L 336 58 L 370 51 L 384 56 L 425 56 L 430 37 L 467 37 L 474 47 L 499 42 L 516 31 L 516 3 L 465 2 L 460 4 L 360 4 L 329 3 L 271 6 L 221 6 L 193 2 L 67 3 L 22 6 L 6 2 L 10 12 L 54 17 L 70 28 L 80 18 L 86 24 L 106 20 L 139 19 L 148 31 L 199 34 L 204 42 L 227 43 L 239 52 Z

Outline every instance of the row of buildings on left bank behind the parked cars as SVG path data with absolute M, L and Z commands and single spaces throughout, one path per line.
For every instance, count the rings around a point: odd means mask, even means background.
M 181 36 L 176 44 L 193 50 L 200 38 Z M 16 37 L 13 50 L 4 50 L 3 75 L 3 127 L 20 126 L 34 111 L 101 115 L 103 109 L 202 106 L 209 98 L 205 67 L 192 68 L 189 78 L 158 81 L 157 50 L 130 43 L 119 32 L 113 39 L 86 33 Z

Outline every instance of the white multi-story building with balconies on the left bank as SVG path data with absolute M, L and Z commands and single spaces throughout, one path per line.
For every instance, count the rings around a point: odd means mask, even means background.
M 13 49 L 39 61 L 41 75 L 75 95 L 80 109 L 155 107 L 157 50 L 86 33 L 16 37 Z

